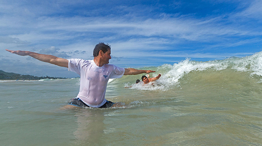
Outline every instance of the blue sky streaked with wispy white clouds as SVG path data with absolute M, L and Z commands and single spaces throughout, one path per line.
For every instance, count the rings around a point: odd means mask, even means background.
M 124 68 L 245 57 L 262 51 L 262 1 L 0 0 L 0 70 L 78 77 L 5 49 L 93 59 L 99 42 Z

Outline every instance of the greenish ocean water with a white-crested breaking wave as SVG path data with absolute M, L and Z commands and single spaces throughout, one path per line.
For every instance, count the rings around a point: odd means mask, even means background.
M 139 69 L 162 76 L 110 80 L 107 109 L 63 108 L 79 78 L 0 81 L 1 145 L 262 145 L 262 52 Z

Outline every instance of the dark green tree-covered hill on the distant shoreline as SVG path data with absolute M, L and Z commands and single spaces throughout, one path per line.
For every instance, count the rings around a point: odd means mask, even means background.
M 61 77 L 37 77 L 31 75 L 15 74 L 13 72 L 4 72 L 0 70 L 0 80 L 39 80 L 39 79 L 66 79 Z

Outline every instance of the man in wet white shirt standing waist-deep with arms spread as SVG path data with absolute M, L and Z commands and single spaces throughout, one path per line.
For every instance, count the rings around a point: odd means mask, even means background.
M 138 70 L 133 68 L 120 68 L 110 65 L 111 47 L 108 44 L 99 43 L 93 50 L 93 60 L 63 59 L 53 55 L 39 54 L 30 51 L 12 51 L 11 53 L 26 56 L 29 55 L 43 62 L 48 62 L 61 67 L 67 67 L 69 71 L 80 75 L 80 88 L 77 98 L 70 100 L 69 105 L 79 107 L 111 107 L 114 103 L 105 99 L 107 82 L 110 78 L 121 78 L 123 75 L 135 75 L 155 72 L 152 70 Z

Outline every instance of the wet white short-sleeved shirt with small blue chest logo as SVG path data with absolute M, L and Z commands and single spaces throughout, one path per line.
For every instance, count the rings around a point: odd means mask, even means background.
M 94 60 L 67 59 L 68 70 L 80 75 L 80 89 L 77 98 L 88 106 L 101 107 L 105 104 L 105 92 L 109 79 L 121 78 L 125 69 L 104 64 L 99 67 Z

